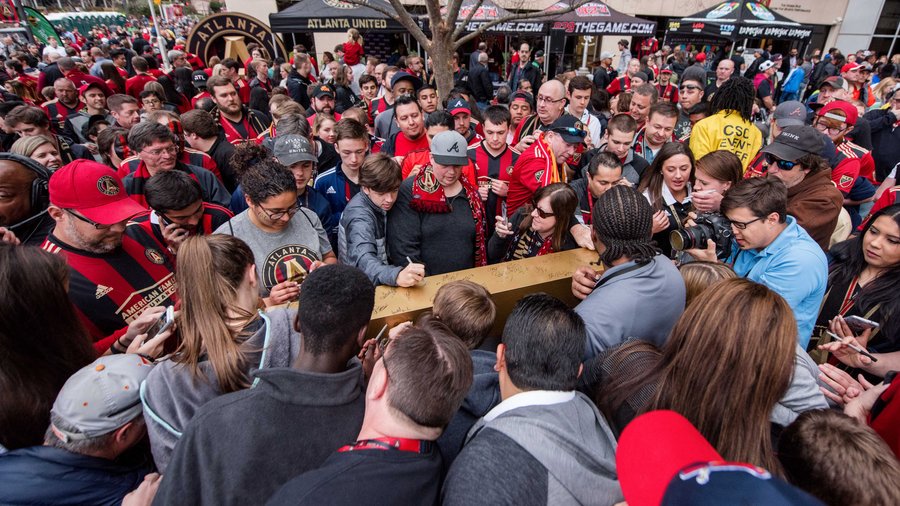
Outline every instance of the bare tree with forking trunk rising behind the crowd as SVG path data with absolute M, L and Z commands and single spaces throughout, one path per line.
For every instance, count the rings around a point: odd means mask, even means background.
M 522 12 L 528 3 L 527 0 L 519 0 L 518 13 L 499 17 L 495 20 L 480 24 L 471 32 L 466 27 L 478 12 L 483 0 L 477 0 L 473 8 L 464 18 L 460 18 L 459 11 L 464 0 L 447 0 L 446 10 L 441 12 L 440 0 L 424 0 L 428 16 L 428 24 L 431 29 L 431 38 L 419 26 L 413 15 L 407 12 L 400 0 L 385 0 L 387 5 L 369 2 L 368 0 L 345 0 L 347 3 L 369 7 L 381 12 L 397 21 L 412 35 L 425 51 L 431 55 L 435 82 L 440 97 L 447 97 L 453 89 L 453 53 L 467 42 L 481 36 L 490 28 L 518 20 L 548 21 L 549 16 L 557 16 L 571 12 L 588 3 L 590 0 L 562 0 L 566 6 L 551 12 Z M 549 23 L 548 23 L 549 24 Z M 535 90 L 536 91 L 536 90 Z

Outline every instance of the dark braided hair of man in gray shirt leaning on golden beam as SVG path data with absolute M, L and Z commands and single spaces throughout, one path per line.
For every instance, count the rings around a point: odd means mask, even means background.
M 597 240 L 606 249 L 600 261 L 606 266 L 622 257 L 637 263 L 659 254 L 653 245 L 653 211 L 643 195 L 628 186 L 613 186 L 603 193 L 592 211 Z

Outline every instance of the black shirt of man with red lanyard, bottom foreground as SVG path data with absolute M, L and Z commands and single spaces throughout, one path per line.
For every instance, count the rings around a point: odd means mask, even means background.
M 442 468 L 436 445 L 421 454 L 380 449 L 337 452 L 319 469 L 287 482 L 266 504 L 438 504 Z

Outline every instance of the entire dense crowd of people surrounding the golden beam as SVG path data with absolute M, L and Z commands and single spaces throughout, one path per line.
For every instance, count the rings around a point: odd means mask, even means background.
M 0 503 L 900 503 L 900 55 L 176 28 L 2 41 Z

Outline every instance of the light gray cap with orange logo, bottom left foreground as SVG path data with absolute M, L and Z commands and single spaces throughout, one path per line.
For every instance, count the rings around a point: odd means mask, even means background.
M 143 410 L 141 382 L 152 370 L 153 363 L 136 354 L 106 355 L 79 369 L 50 410 L 67 425 L 52 426 L 54 434 L 63 442 L 90 439 L 134 420 Z

